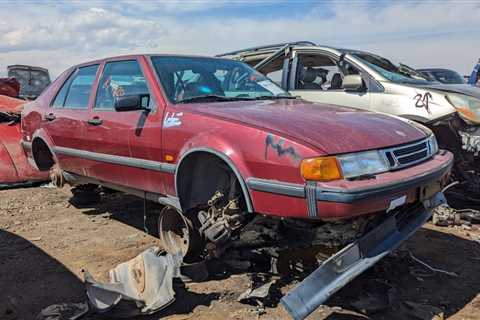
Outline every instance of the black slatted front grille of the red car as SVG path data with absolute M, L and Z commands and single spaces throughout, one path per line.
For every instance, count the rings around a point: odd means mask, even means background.
M 429 139 L 382 150 L 390 169 L 408 167 L 430 158 L 433 150 Z

